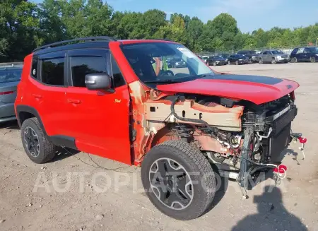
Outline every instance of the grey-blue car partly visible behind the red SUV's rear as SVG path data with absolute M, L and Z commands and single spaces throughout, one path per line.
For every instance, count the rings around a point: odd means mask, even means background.
M 23 63 L 0 64 L 0 123 L 16 119 L 14 101 Z

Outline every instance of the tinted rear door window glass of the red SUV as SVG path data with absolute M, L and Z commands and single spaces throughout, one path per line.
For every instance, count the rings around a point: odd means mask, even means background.
M 42 59 L 42 83 L 64 85 L 64 58 Z

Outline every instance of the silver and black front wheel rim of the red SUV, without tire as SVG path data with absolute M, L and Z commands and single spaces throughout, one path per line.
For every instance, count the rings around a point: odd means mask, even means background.
M 168 208 L 182 210 L 193 200 L 193 182 L 187 170 L 170 158 L 155 160 L 149 171 L 153 194 Z

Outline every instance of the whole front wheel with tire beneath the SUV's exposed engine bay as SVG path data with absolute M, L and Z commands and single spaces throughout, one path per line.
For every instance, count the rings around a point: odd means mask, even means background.
M 153 147 L 143 160 L 141 180 L 153 205 L 178 220 L 202 215 L 216 191 L 216 178 L 208 160 L 183 141 Z

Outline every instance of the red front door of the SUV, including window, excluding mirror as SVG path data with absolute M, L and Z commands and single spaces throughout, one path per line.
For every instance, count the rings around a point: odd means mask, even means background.
M 107 49 L 78 49 L 67 54 L 70 86 L 68 134 L 86 153 L 131 164 L 129 140 L 129 91 L 117 64 Z M 112 91 L 88 90 L 85 76 L 107 73 Z

